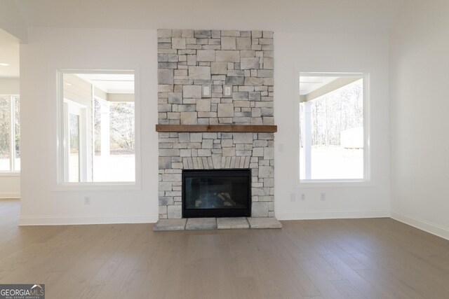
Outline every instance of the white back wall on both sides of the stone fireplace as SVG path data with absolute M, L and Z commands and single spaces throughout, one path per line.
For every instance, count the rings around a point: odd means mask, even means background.
M 241 28 L 244 29 L 244 28 Z M 276 216 L 338 218 L 389 215 L 388 39 L 379 35 L 275 32 Z M 114 49 L 114 50 L 111 50 Z M 20 223 L 152 222 L 158 214 L 156 31 L 29 30 L 21 47 L 22 210 Z M 141 100 L 141 190 L 65 190 L 55 185 L 56 69 L 136 69 Z M 26 71 L 25 71 L 26 70 Z M 371 74 L 373 182 L 370 186 L 296 188 L 295 71 Z M 139 95 L 136 94 L 136 97 Z M 36 159 L 39 153 L 39 159 Z M 326 191 L 327 200 L 319 200 Z M 307 193 L 290 202 L 290 193 Z M 84 205 L 83 197 L 92 204 Z

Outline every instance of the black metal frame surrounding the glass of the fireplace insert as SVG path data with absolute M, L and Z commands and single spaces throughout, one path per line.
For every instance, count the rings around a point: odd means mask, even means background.
M 230 177 L 239 175 L 248 180 L 247 208 L 242 209 L 187 209 L 186 177 L 200 177 L 203 172 L 209 172 L 212 177 Z M 203 176 L 203 175 L 202 175 Z M 250 217 L 251 216 L 251 169 L 182 169 L 182 218 L 201 217 Z

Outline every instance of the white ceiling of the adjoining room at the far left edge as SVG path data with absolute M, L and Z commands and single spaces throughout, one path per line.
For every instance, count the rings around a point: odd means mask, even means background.
M 19 78 L 19 41 L 0 29 L 0 78 Z

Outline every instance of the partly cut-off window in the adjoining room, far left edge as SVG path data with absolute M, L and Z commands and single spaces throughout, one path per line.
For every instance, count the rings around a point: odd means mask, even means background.
M 18 95 L 0 95 L 0 172 L 20 172 Z

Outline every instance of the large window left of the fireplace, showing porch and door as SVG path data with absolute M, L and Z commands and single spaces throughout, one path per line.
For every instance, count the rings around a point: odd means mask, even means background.
M 60 71 L 60 181 L 135 182 L 133 71 Z

